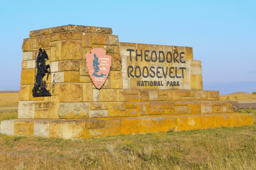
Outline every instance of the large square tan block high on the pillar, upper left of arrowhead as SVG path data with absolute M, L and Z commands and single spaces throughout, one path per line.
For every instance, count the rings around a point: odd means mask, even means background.
M 61 41 L 61 60 L 82 60 L 81 40 Z

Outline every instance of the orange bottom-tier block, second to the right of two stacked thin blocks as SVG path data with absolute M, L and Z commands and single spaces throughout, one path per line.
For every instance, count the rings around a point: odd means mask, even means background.
M 122 120 L 122 134 L 138 133 L 138 131 L 139 131 L 138 119 Z

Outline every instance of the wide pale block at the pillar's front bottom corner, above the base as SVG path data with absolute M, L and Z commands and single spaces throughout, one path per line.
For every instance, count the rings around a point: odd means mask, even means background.
M 59 103 L 58 115 L 62 119 L 89 118 L 88 103 Z

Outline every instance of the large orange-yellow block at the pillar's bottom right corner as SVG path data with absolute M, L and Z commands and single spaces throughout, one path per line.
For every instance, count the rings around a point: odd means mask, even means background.
M 124 102 L 109 102 L 109 117 L 125 117 L 126 109 Z

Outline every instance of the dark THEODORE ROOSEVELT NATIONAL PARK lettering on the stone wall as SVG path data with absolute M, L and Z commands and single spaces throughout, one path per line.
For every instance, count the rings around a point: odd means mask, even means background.
M 134 50 L 133 49 L 127 49 L 127 51 L 130 51 L 130 61 L 131 61 L 131 52 Z M 148 52 L 148 53 L 147 53 Z M 136 50 L 136 61 L 138 61 L 138 58 L 141 59 L 141 61 L 143 61 L 143 56 L 142 56 L 142 50 L 141 50 L 141 54 L 138 54 L 138 51 Z M 172 56 L 172 53 L 170 51 L 167 52 L 166 54 L 166 57 L 165 57 L 165 53 L 163 51 L 159 51 L 159 55 L 157 57 L 157 52 L 155 50 L 153 50 L 151 52 L 151 57 L 150 59 L 147 59 L 147 57 L 149 57 L 149 54 L 150 54 L 150 50 L 145 50 L 144 51 L 144 60 L 145 61 L 152 61 L 152 62 L 156 62 L 158 59 L 159 59 L 159 63 L 161 62 L 177 62 L 177 63 L 186 63 L 186 61 L 184 60 L 183 61 L 183 57 L 184 57 L 184 52 L 181 52 L 181 53 L 178 53 L 178 52 L 174 52 L 173 53 L 173 56 Z M 160 57 L 160 55 L 162 54 L 163 57 Z M 182 55 L 183 54 L 183 55 Z M 179 58 L 178 58 L 179 57 Z M 155 70 L 156 69 L 156 70 Z M 181 73 L 182 75 L 178 76 L 177 75 L 177 70 L 180 69 L 181 70 Z M 154 67 L 154 66 L 150 66 L 150 67 L 147 67 L 147 66 L 144 66 L 143 68 L 141 68 L 140 66 L 135 66 L 135 68 L 133 66 L 128 66 L 127 68 L 127 74 L 128 74 L 128 77 L 144 77 L 144 78 L 147 78 L 147 77 L 157 77 L 157 78 L 166 78 L 166 77 L 170 77 L 170 78 L 184 78 L 184 69 L 186 69 L 186 67 Z M 133 70 L 134 70 L 134 75 L 133 75 Z M 174 71 L 175 70 L 175 71 Z M 162 71 L 162 73 L 161 73 Z M 169 74 L 167 74 L 167 72 L 169 71 Z M 161 74 L 160 74 L 161 73 Z M 175 74 L 175 76 L 174 76 Z M 162 81 L 160 83 L 160 81 L 138 81 L 137 82 L 137 86 L 146 86 L 146 84 L 148 86 L 163 86 L 162 84 Z M 166 86 L 179 86 L 179 82 L 169 82 L 167 81 L 166 82 Z

